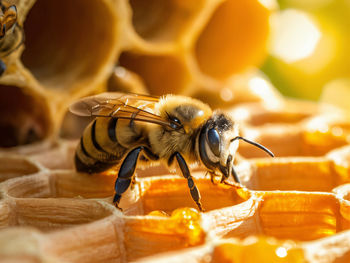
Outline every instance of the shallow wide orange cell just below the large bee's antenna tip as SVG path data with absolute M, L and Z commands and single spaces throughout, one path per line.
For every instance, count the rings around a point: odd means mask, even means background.
M 243 184 L 249 189 L 263 191 L 321 191 L 331 192 L 338 185 L 350 181 L 335 168 L 334 163 L 324 157 L 273 158 L 242 164 Z

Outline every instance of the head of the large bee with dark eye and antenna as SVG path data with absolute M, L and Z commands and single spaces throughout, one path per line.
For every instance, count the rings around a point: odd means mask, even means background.
M 199 156 L 207 169 L 228 178 L 233 172 L 233 160 L 238 148 L 238 141 L 251 143 L 273 156 L 264 146 L 249 141 L 238 135 L 238 126 L 233 120 L 221 112 L 214 112 L 203 125 L 198 141 Z M 238 178 L 235 178 L 237 181 Z

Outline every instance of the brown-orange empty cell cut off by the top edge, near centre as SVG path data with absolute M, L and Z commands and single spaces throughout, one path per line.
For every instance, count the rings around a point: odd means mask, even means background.
M 193 24 L 205 1 L 131 0 L 132 24 L 146 41 L 174 43 Z

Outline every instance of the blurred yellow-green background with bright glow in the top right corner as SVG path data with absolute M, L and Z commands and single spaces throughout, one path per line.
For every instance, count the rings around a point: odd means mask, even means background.
M 337 101 L 346 107 L 350 1 L 279 0 L 278 5 L 262 71 L 287 96 Z

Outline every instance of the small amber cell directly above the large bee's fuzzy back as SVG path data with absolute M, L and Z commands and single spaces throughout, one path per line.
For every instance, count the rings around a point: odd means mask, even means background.
M 191 84 L 186 65 L 173 56 L 124 52 L 119 64 L 140 75 L 152 95 L 179 94 Z

